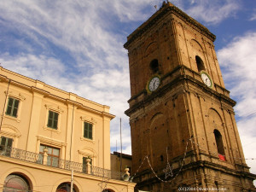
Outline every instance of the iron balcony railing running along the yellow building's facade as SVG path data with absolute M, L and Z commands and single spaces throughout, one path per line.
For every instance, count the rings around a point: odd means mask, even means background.
M 25 160 L 28 162 L 41 164 L 45 166 L 52 166 L 64 170 L 73 172 L 81 172 L 84 174 L 90 174 L 97 177 L 107 177 L 117 180 L 122 180 L 122 172 L 113 172 L 111 170 L 103 169 L 101 167 L 84 165 L 83 163 L 73 162 L 70 160 L 61 160 L 57 157 L 47 156 L 44 161 L 43 154 L 36 154 L 19 148 L 9 148 L 7 146 L 0 145 L 0 155 L 14 158 L 16 160 Z

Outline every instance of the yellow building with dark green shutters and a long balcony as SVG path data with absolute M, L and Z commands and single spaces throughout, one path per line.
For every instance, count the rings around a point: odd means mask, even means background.
M 0 191 L 134 190 L 110 171 L 108 106 L 0 67 L 0 113 Z

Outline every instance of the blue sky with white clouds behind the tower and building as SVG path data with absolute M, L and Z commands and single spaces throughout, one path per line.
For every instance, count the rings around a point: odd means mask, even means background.
M 246 158 L 256 158 L 256 1 L 172 0 L 217 36 L 224 83 L 235 99 Z M 0 62 L 16 73 L 111 107 L 112 151 L 122 118 L 131 154 L 126 37 L 154 14 L 160 0 L 0 1 Z M 251 115 L 250 115 L 251 114 Z M 256 160 L 247 160 L 256 173 Z

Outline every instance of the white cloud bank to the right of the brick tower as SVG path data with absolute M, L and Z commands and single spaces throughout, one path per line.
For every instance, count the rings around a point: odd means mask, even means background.
M 218 50 L 218 61 L 231 97 L 238 99 L 235 111 L 241 143 L 246 158 L 256 158 L 256 32 L 234 38 L 225 48 Z M 251 172 L 256 173 L 255 160 L 247 160 Z

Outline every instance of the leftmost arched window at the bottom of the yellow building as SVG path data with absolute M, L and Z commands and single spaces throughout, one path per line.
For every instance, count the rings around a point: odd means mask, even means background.
M 29 191 L 31 187 L 25 177 L 18 174 L 10 174 L 4 180 L 3 192 Z

